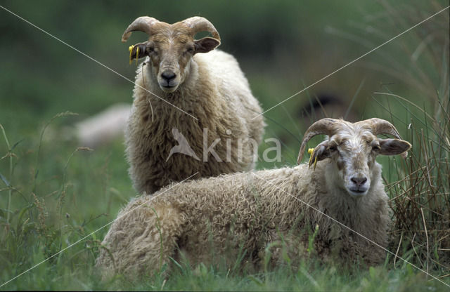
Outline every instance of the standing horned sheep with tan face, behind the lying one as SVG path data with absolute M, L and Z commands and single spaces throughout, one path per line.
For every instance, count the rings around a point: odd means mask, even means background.
M 130 47 L 131 60 L 146 58 L 137 69 L 125 133 L 136 190 L 151 194 L 194 173 L 200 178 L 252 169 L 264 131 L 257 117 L 262 110 L 236 59 L 212 51 L 220 44 L 212 23 L 193 17 L 169 25 L 144 16 L 122 41 L 136 30 L 149 35 Z M 204 31 L 213 37 L 193 39 Z M 185 152 L 174 153 L 179 140 L 172 133 L 188 142 Z

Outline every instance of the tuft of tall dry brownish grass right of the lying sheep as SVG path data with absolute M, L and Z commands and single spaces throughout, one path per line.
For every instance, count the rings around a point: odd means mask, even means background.
M 449 95 L 442 116 L 424 128 L 411 120 L 413 151 L 402 172 L 404 178 L 387 186 L 394 210 L 392 246 L 411 257 L 425 271 L 450 276 L 450 113 Z M 401 175 L 399 175 L 401 176 Z M 412 255 L 406 255 L 412 250 Z M 394 260 L 395 264 L 395 260 Z

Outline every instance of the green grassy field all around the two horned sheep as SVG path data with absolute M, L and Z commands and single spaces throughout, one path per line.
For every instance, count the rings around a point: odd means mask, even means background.
M 44 5 L 27 7 L 21 1 L 1 5 L 23 13 L 101 62 L 115 64 L 118 72 L 131 79 L 135 67 L 127 64 L 125 46 L 112 46 L 107 54 L 104 46 L 118 43 L 131 19 L 150 13 L 167 21 L 199 13 L 217 19 L 213 22 L 221 32 L 224 50 L 237 55 L 264 109 L 448 6 L 446 1 L 368 1 L 359 5 L 345 1 L 342 8 L 329 1 L 323 9 L 313 1 L 307 7 L 290 1 L 266 6 L 254 1 L 239 6 L 232 1 L 229 7 L 191 1 L 191 5 L 174 7 L 167 16 L 164 2 L 158 2 L 151 9 L 144 4 L 110 8 L 108 13 L 115 16 L 110 17 L 100 4 L 72 7 L 47 2 L 53 12 Z M 122 11 L 127 13 L 122 15 Z M 233 13 L 229 15 L 234 15 L 242 28 L 239 32 L 226 28 L 225 12 Z M 413 149 L 406 160 L 378 159 L 394 211 L 389 250 L 416 267 L 387 253 L 383 265 L 369 269 L 343 270 L 314 260 L 305 260 L 298 270 L 280 267 L 257 274 L 198 265 L 180 266 L 170 277 L 156 274 L 131 281 L 118 275 L 106 282 L 94 268 L 101 240 L 120 207 L 137 194 L 127 174 L 122 139 L 90 149 L 68 138 L 68 132 L 75 122 L 108 105 L 131 102 L 132 84 L 115 79 L 111 72 L 1 9 L 0 15 L 0 27 L 5 28 L 0 36 L 0 289 L 449 289 L 448 10 L 268 112 L 265 137 L 281 140 L 283 159 L 257 165 L 295 165 L 302 133 L 320 117 L 348 114 L 353 119 L 391 121 Z M 297 15 L 301 17 L 297 19 Z M 271 25 L 262 21 L 269 18 Z M 94 22 L 93 32 L 86 32 Z M 262 28 L 254 27 L 255 23 Z M 321 95 L 333 96 L 340 103 L 325 111 L 309 110 Z M 270 146 L 263 143 L 259 152 Z

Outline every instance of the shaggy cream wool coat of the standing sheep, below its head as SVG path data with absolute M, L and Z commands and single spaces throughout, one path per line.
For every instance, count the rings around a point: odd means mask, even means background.
M 194 55 L 184 83 L 174 93 L 160 89 L 151 62 L 146 64 L 137 70 L 125 131 L 129 175 L 138 192 L 152 194 L 194 173 L 193 178 L 203 178 L 254 168 L 264 132 L 263 118 L 257 117 L 262 109 L 232 55 L 219 50 Z M 171 155 L 178 145 L 174 129 L 195 155 Z M 214 157 L 205 150 L 217 139 Z

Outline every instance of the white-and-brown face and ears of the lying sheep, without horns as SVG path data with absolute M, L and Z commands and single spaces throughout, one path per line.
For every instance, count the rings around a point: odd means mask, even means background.
M 321 142 L 313 153 L 313 159 L 330 158 L 338 187 L 352 197 L 367 194 L 373 181 L 373 167 L 378 154 L 396 155 L 409 150 L 409 142 L 398 139 L 379 139 L 366 128 L 347 128 Z

